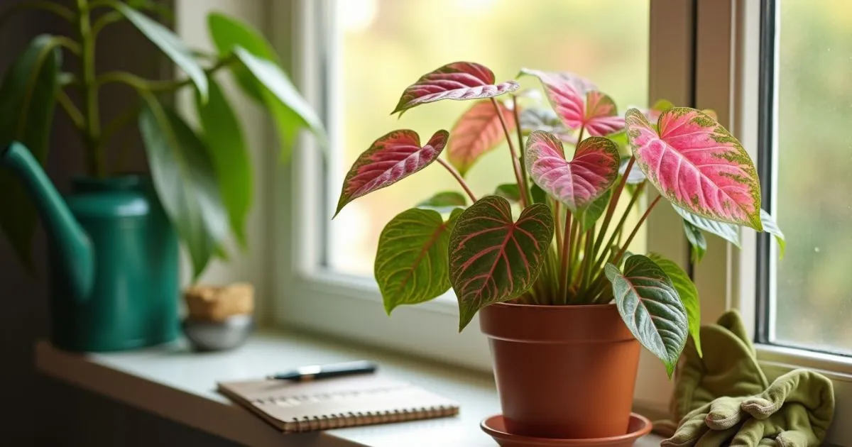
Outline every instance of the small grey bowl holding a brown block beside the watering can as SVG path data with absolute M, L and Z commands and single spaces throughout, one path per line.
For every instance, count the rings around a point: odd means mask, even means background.
M 182 326 L 196 351 L 226 351 L 245 342 L 254 329 L 254 318 L 251 315 L 232 315 L 223 321 L 186 318 Z

